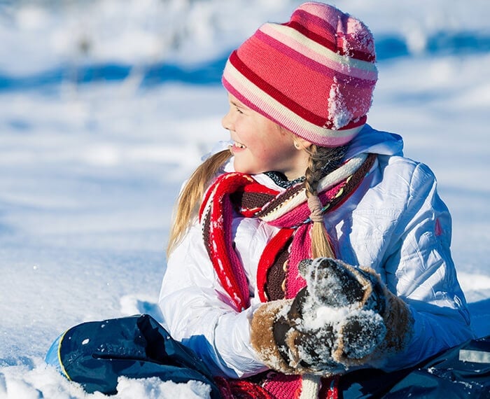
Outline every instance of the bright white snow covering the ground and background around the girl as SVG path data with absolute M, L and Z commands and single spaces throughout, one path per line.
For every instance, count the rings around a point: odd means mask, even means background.
M 0 398 L 102 398 L 43 363 L 60 332 L 156 305 L 183 179 L 219 140 L 229 50 L 299 1 L 3 1 Z M 377 43 L 369 123 L 435 172 L 478 336 L 490 333 L 490 4 L 336 1 Z M 212 80 L 212 82 L 210 82 Z M 121 379 L 118 398 L 206 397 Z

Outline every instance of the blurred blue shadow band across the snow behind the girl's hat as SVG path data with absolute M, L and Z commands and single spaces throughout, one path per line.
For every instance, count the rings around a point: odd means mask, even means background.
M 402 36 L 380 35 L 375 38 L 377 59 L 384 61 L 411 56 L 409 45 Z M 422 55 L 470 55 L 490 52 L 490 34 L 461 31 L 438 32 L 428 37 Z M 38 90 L 57 87 L 64 82 L 85 84 L 125 80 L 134 71 L 141 73 L 141 86 L 152 87 L 167 82 L 193 85 L 217 85 L 229 52 L 209 62 L 195 66 L 156 63 L 141 66 L 130 64 L 62 64 L 55 69 L 30 76 L 9 76 L 0 71 L 0 92 Z

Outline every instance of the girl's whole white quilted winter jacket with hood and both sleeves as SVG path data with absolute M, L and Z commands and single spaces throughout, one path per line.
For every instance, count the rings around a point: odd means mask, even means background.
M 388 361 L 386 371 L 414 365 L 472 337 L 449 250 L 449 211 L 437 195 L 433 173 L 426 165 L 403 158 L 402 145 L 398 135 L 366 125 L 346 156 L 377 153 L 377 162 L 356 192 L 325 214 L 338 258 L 372 267 L 412 310 L 412 342 Z M 256 177 L 283 190 L 265 175 Z M 267 370 L 251 348 L 249 321 L 260 306 L 255 284 L 258 260 L 276 228 L 242 217 L 235 218 L 232 227 L 248 277 L 251 307 L 240 313 L 232 309 L 197 221 L 169 256 L 159 303 L 174 338 L 196 351 L 216 374 L 236 378 Z

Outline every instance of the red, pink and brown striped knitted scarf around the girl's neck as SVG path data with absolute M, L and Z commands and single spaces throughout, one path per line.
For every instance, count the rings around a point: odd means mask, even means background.
M 346 200 L 363 181 L 376 155 L 361 154 L 350 160 L 318 183 L 318 198 L 325 213 Z M 239 255 L 232 243 L 234 212 L 248 218 L 259 218 L 279 228 L 267 243 L 258 264 L 257 286 L 262 302 L 267 302 L 267 271 L 278 253 L 289 244 L 289 257 L 284 282 L 286 298 L 293 298 L 306 285 L 299 274 L 298 264 L 311 258 L 310 210 L 304 183 L 282 193 L 267 188 L 252 175 L 230 172 L 218 176 L 204 194 L 200 208 L 200 223 L 204 244 L 223 288 L 237 311 L 249 306 L 248 281 Z

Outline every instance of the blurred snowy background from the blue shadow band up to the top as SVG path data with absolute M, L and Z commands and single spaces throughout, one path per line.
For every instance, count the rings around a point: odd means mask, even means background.
M 293 0 L 3 0 L 2 90 L 132 78 L 217 83 L 230 49 Z M 340 0 L 377 39 L 380 61 L 490 50 L 484 0 Z M 185 66 L 185 67 L 184 67 Z M 133 84 L 136 83 L 133 81 Z

